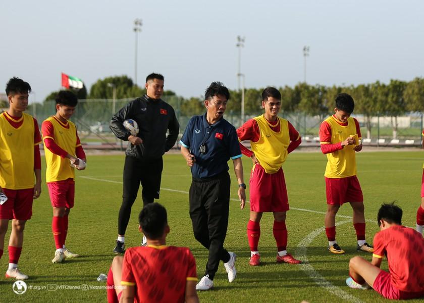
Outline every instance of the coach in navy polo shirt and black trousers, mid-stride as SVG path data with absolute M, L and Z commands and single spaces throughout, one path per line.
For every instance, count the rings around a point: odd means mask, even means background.
M 236 277 L 234 252 L 224 249 L 230 206 L 230 175 L 227 165 L 233 160 L 239 189 L 240 207 L 244 208 L 246 185 L 236 129 L 223 118 L 230 92 L 221 82 L 213 82 L 204 95 L 206 114 L 194 116 L 181 138 L 181 154 L 191 168 L 190 218 L 197 241 L 209 250 L 203 278 L 197 290 L 214 286 L 214 276 L 220 260 L 228 273 L 228 280 Z

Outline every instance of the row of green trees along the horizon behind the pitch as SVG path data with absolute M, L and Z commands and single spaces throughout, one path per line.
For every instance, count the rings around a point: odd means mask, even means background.
M 80 99 L 112 99 L 113 89 L 116 98 L 132 98 L 143 95 L 144 87 L 134 85 L 127 76 L 106 77 L 97 80 L 89 93 L 86 88 L 77 91 Z M 367 132 L 371 131 L 371 118 L 375 116 L 393 117 L 393 131 L 397 131 L 397 117 L 407 112 L 424 112 L 424 78 L 412 81 L 390 80 L 388 84 L 376 81 L 370 84 L 350 86 L 324 86 L 298 83 L 294 87 L 278 87 L 281 92 L 281 111 L 284 113 L 303 113 L 319 116 L 323 120 L 333 112 L 335 96 L 340 92 L 351 94 L 355 100 L 355 114 L 364 116 Z M 255 115 L 262 111 L 261 92 L 263 88 L 245 89 L 245 114 Z M 54 99 L 57 92 L 52 92 L 45 100 Z M 231 99 L 227 111 L 241 111 L 241 91 L 230 90 Z M 191 117 L 204 112 L 203 97 L 184 98 L 174 91 L 166 90 L 163 98 L 174 106 L 180 116 Z M 87 104 L 86 106 L 89 107 Z M 88 110 L 88 108 L 87 108 Z M 91 109 L 93 110 L 93 109 Z

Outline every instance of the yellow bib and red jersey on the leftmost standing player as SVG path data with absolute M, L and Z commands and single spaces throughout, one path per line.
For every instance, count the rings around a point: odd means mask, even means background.
M 28 114 L 14 118 L 0 114 L 0 186 L 7 189 L 34 187 L 34 150 L 41 143 L 37 121 Z M 38 156 L 39 157 L 39 156 Z M 35 163 L 36 164 L 36 163 Z

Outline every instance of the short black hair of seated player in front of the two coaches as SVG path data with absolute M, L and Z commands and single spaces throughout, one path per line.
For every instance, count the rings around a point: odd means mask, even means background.
M 149 203 L 138 215 L 138 222 L 146 238 L 159 239 L 168 225 L 167 210 L 158 203 Z

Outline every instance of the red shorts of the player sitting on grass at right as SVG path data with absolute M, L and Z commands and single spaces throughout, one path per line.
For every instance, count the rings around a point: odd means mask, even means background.
M 384 270 L 380 271 L 378 274 L 374 281 L 373 288 L 387 299 L 406 300 L 424 296 L 424 291 L 407 292 L 397 289 L 396 286 L 392 284 L 390 273 Z

